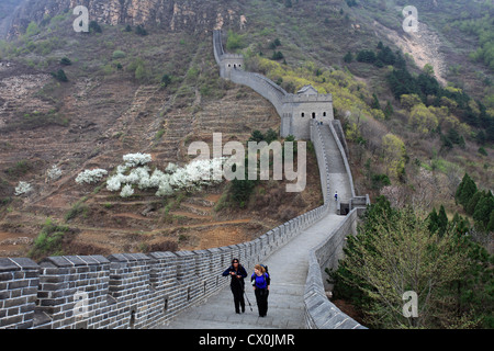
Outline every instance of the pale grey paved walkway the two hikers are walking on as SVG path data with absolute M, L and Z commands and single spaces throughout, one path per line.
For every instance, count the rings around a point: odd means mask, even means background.
M 328 215 L 272 253 L 267 260 L 271 273 L 268 315 L 258 317 L 256 297 L 249 284 L 254 268 L 246 268 L 247 298 L 245 314 L 235 313 L 229 285 L 199 306 L 191 307 L 158 329 L 302 329 L 304 321 L 304 287 L 308 270 L 308 250 L 319 244 L 345 217 Z M 242 263 L 242 262 L 240 262 Z M 226 267 L 225 267 L 226 269 Z M 228 278 L 229 279 L 229 278 Z

